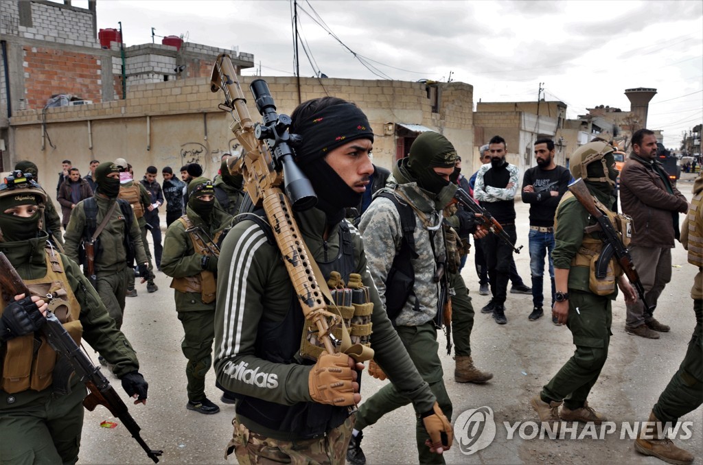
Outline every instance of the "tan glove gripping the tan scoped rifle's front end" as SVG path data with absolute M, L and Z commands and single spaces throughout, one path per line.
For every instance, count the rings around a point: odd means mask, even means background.
M 308 376 L 310 397 L 319 404 L 354 405 L 354 375 L 349 355 L 323 351 Z

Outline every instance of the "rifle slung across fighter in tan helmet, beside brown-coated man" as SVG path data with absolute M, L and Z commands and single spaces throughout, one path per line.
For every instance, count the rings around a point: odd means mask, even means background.
M 602 241 L 605 242 L 603 249 L 600 251 L 598 262 L 595 266 L 595 277 L 598 279 L 605 278 L 607 275 L 608 263 L 610 262 L 610 259 L 615 256 L 615 259 L 620 264 L 622 270 L 627 276 L 627 279 L 630 280 L 633 287 L 637 290 L 637 294 L 640 296 L 640 300 L 645 306 L 645 312 L 652 315 L 654 312 L 654 306 L 647 304 L 647 300 L 645 299 L 645 287 L 640 281 L 640 275 L 638 275 L 634 263 L 632 263 L 630 251 L 628 251 L 625 244 L 623 244 L 620 240 L 617 231 L 613 228 L 613 225 L 610 223 L 607 215 L 601 211 L 598 206 L 596 206 L 593 201 L 593 197 L 591 197 L 591 192 L 589 192 L 586 187 L 586 183 L 583 182 L 583 179 L 578 178 L 576 181 L 569 184 L 569 191 L 571 191 L 574 197 L 576 197 L 576 200 L 583 205 L 583 208 L 585 208 L 586 211 L 588 211 L 588 213 L 591 214 L 596 221 L 598 221 L 598 225 L 600 226 L 600 230 L 598 232 Z

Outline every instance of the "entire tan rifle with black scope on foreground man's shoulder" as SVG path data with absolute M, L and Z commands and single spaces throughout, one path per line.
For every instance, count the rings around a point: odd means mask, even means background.
M 310 181 L 293 160 L 291 145 L 300 138 L 288 132 L 290 117 L 276 113 L 276 104 L 266 81 L 254 79 L 249 88 L 263 123 L 252 122 L 232 61 L 225 53 L 219 55 L 212 67 L 210 90 L 224 93 L 224 103 L 219 107 L 231 114 L 230 129 L 246 152 L 238 160 L 230 158 L 228 169 L 230 172 L 241 171 L 252 203 L 264 207 L 300 306 L 306 319 L 317 328 L 317 339 L 323 342 L 325 351 L 344 351 L 360 362 L 370 360 L 373 357 L 370 348 L 366 348 L 362 355 L 362 352 L 347 351 L 347 341 L 334 340 L 331 328 L 340 322 L 340 316 L 327 310 L 323 294 L 328 299 L 331 295 L 327 296 L 325 288 L 318 284 L 323 277 L 317 277 L 316 263 L 293 216 L 294 209 L 303 211 L 317 202 Z M 362 350 L 361 347 L 355 349 Z

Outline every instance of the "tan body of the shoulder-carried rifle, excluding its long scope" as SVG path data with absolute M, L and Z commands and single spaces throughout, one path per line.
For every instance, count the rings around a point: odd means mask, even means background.
M 302 233 L 293 216 L 290 201 L 282 189 L 283 166 L 281 164 L 283 160 L 280 159 L 280 153 L 285 150 L 282 150 L 281 145 L 278 145 L 278 141 L 288 142 L 288 129 L 281 127 L 280 124 L 285 115 L 280 115 L 279 124 L 271 120 L 272 117 L 276 117 L 275 106 L 273 106 L 273 99 L 271 99 L 271 104 L 266 107 L 269 111 L 264 116 L 266 124 L 252 123 L 249 110 L 247 110 L 247 100 L 244 98 L 229 55 L 225 53 L 219 55 L 215 60 L 210 84 L 211 91 L 223 91 L 225 101 L 219 107 L 232 115 L 233 122 L 230 129 L 246 151 L 246 155 L 240 161 L 233 160 L 231 164 L 228 164 L 228 167 L 231 172 L 233 169 L 241 169 L 245 189 L 250 195 L 252 203 L 264 207 L 266 218 L 273 229 L 276 244 L 283 255 L 283 262 L 288 270 L 303 313 L 308 320 L 316 325 L 318 339 L 323 341 L 325 350 L 328 353 L 335 353 L 339 351 L 339 348 L 335 346 L 330 337 L 331 326 L 340 321 L 340 317 L 327 311 L 314 268 L 311 265 L 314 263 L 313 259 L 308 254 Z M 259 85 L 261 84 L 259 83 Z M 273 107 L 273 111 L 271 111 L 271 107 Z M 259 108 L 259 111 L 262 111 L 262 108 Z M 290 122 L 290 118 L 285 118 Z M 275 133 L 276 141 L 274 142 L 273 138 L 262 136 L 264 133 Z M 278 155 L 276 159 L 271 155 L 273 152 Z

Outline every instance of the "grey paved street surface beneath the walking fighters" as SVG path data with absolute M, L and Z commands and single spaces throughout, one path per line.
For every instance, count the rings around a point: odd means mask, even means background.
M 678 188 L 690 199 L 692 176 L 684 174 Z M 524 249 L 515 257 L 517 269 L 529 284 L 529 253 L 527 251 L 528 208 L 515 204 L 518 218 L 518 244 Z M 681 218 L 683 221 L 683 218 Z M 163 218 L 162 218 L 163 222 Z M 463 275 L 473 296 L 476 310 L 472 333 L 472 355 L 478 367 L 494 373 L 494 379 L 484 386 L 458 384 L 453 381 L 454 363 L 446 355 L 446 339 L 440 336 L 440 354 L 444 365 L 444 380 L 453 401 L 453 420 L 465 410 L 490 407 L 494 412 L 496 437 L 493 443 L 475 454 L 460 452 L 458 444 L 446 453 L 451 464 L 663 464 L 652 457 L 633 451 L 633 441 L 619 439 L 621 421 L 645 421 L 669 379 L 683 360 L 686 346 L 695 326 L 690 288 L 695 268 L 686 261 L 679 246 L 673 251 L 673 279 L 664 290 L 657 308 L 657 318 L 671 325 L 671 332 L 658 340 L 629 336 L 624 332 L 625 305 L 620 297 L 613 305 L 610 355 L 593 387 L 589 403 L 598 412 L 617 423 L 615 433 L 604 440 L 590 436 L 581 440 L 549 440 L 514 438 L 508 440 L 503 422 L 538 421 L 529 407 L 529 398 L 538 393 L 557 369 L 572 355 L 571 333 L 567 327 L 555 327 L 548 311 L 536 322 L 529 322 L 531 296 L 508 294 L 505 304 L 507 325 L 496 325 L 490 315 L 480 313 L 489 300 L 479 296 L 478 282 L 469 257 Z M 146 284 L 137 284 L 139 296 L 127 299 L 122 330 L 136 349 L 141 372 L 149 382 L 146 406 L 131 405 L 120 381 L 109 374 L 117 392 L 129 402 L 130 412 L 142 428 L 142 437 L 150 447 L 162 449 L 164 464 L 236 463 L 232 455 L 224 460 L 224 449 L 232 435 L 232 405 L 219 402 L 220 392 L 214 387 L 214 372 L 207 378 L 207 395 L 221 407 L 214 415 L 202 415 L 186 410 L 186 360 L 181 354 L 183 329 L 176 317 L 170 278 L 157 273 L 159 291 L 146 292 Z M 546 285 L 547 287 L 547 285 Z M 93 356 L 97 360 L 97 356 Z M 103 369 L 105 372 L 105 369 Z M 388 381 L 385 381 L 388 382 Z M 380 381 L 363 378 L 363 397 L 382 386 Z M 699 407 L 681 421 L 692 421 L 691 438 L 677 444 L 703 461 L 703 418 Z M 141 447 L 129 437 L 120 424 L 117 428 L 101 428 L 101 421 L 117 421 L 108 410 L 98 407 L 86 412 L 79 463 L 84 464 L 149 464 L 151 461 Z M 512 428 L 512 426 L 511 426 Z M 531 432 L 530 428 L 525 430 Z M 583 432 L 579 426 L 576 435 Z M 369 464 L 412 464 L 415 451 L 415 416 L 411 407 L 404 407 L 384 417 L 364 431 L 363 450 Z

